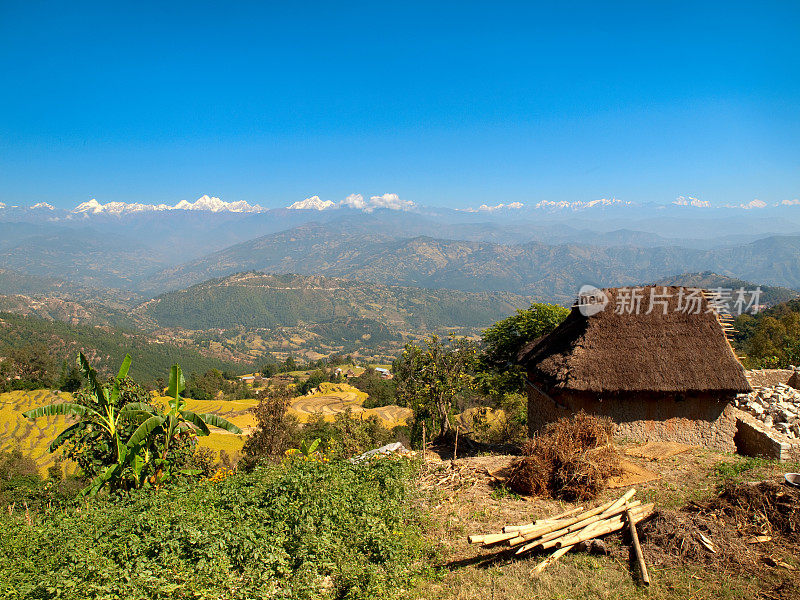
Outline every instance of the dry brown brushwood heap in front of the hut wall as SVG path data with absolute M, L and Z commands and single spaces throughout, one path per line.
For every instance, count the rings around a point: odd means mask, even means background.
M 563 500 L 596 498 L 619 475 L 611 419 L 580 412 L 549 423 L 522 448 L 506 485 L 517 493 Z

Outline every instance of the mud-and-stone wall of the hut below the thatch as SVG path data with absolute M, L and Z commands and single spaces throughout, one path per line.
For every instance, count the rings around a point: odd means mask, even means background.
M 639 441 L 673 441 L 735 451 L 736 415 L 732 397 L 713 394 L 634 393 L 599 397 L 549 393 L 528 388 L 528 427 L 533 435 L 546 423 L 581 410 L 610 417 L 616 435 Z M 559 406 L 561 405 L 561 406 Z

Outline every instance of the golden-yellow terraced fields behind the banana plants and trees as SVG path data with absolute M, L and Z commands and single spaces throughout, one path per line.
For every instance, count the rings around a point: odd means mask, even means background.
M 33 458 L 42 474 L 53 464 L 56 454 L 50 454 L 47 446 L 58 435 L 68 421 L 65 417 L 49 417 L 29 420 L 22 412 L 43 404 L 63 402 L 71 395 L 66 392 L 50 390 L 17 391 L 0 394 L 0 450 L 18 448 Z M 336 414 L 350 409 L 354 415 L 377 416 L 387 427 L 404 425 L 413 414 L 408 408 L 383 406 L 365 409 L 367 394 L 346 384 L 323 383 L 316 393 L 292 400 L 289 411 L 301 422 L 308 421 L 315 413 L 321 413 L 332 421 Z M 154 402 L 166 406 L 168 398 L 157 396 Z M 225 417 L 242 429 L 242 435 L 234 435 L 220 429 L 211 429 L 211 435 L 199 439 L 200 447 L 215 452 L 225 450 L 232 458 L 241 452 L 246 436 L 255 426 L 251 409 L 256 400 L 192 400 L 187 399 L 187 407 L 196 413 L 215 413 Z

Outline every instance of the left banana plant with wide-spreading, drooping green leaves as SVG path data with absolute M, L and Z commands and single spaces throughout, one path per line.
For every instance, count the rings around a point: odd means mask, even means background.
M 89 364 L 83 352 L 78 354 L 78 366 L 88 382 L 88 389 L 94 400 L 94 406 L 79 404 L 77 402 L 60 402 L 40 406 L 25 411 L 22 414 L 29 419 L 56 415 L 76 416 L 81 418 L 77 423 L 70 425 L 55 437 L 48 447 L 50 452 L 54 452 L 58 449 L 73 434 L 77 433 L 79 429 L 86 427 L 88 423 L 96 424 L 108 434 L 113 442 L 115 462 L 106 467 L 106 469 L 97 475 L 82 491 L 83 494 L 94 495 L 103 485 L 113 479 L 121 477 L 131 457 L 130 448 L 120 437 L 120 421 L 142 419 L 152 413 L 153 407 L 143 402 L 132 402 L 120 406 L 120 384 L 128 376 L 128 370 L 131 366 L 130 354 L 125 355 L 122 366 L 120 366 L 119 372 L 114 378 L 110 388 L 103 386 L 99 382 L 97 371 Z

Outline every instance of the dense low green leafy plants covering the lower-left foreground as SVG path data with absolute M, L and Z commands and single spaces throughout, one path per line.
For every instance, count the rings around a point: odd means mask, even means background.
M 386 598 L 422 543 L 413 462 L 294 460 L 0 516 L 3 598 Z M 416 567 L 414 565 L 417 565 Z

